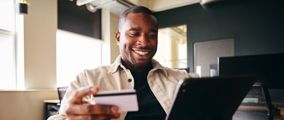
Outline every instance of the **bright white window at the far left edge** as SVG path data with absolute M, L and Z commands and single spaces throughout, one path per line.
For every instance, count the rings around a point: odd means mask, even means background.
M 0 89 L 16 89 L 14 1 L 1 1 L 0 11 Z

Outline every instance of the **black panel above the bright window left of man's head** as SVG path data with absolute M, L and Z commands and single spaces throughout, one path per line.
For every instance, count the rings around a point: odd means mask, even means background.
M 101 39 L 101 10 L 91 13 L 76 0 L 58 0 L 58 29 Z

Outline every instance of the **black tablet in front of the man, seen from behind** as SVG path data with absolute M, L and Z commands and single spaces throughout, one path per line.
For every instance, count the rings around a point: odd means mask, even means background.
M 180 80 L 166 120 L 229 120 L 255 76 Z

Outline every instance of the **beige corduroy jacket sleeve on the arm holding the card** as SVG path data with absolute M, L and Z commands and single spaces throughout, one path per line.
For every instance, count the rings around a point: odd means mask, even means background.
M 70 86 L 66 90 L 66 93 L 62 99 L 60 104 L 60 111 L 58 115 L 50 116 L 47 120 L 65 120 L 67 118 L 65 111 L 68 105 L 69 99 L 73 96 L 73 94 L 78 90 L 78 88 L 88 87 L 90 86 L 87 82 L 87 77 L 85 71 L 79 73 L 76 76 L 76 80 L 70 83 Z M 82 100 L 86 100 L 86 98 L 90 98 L 90 96 L 84 97 Z

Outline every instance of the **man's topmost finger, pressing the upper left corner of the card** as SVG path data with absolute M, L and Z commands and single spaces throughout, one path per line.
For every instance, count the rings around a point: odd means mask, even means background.
M 80 90 L 77 90 L 74 94 L 74 96 L 70 99 L 69 103 L 73 104 L 82 104 L 82 98 L 84 96 L 90 95 L 90 94 L 97 94 L 98 87 L 89 87 L 89 88 L 83 88 Z

